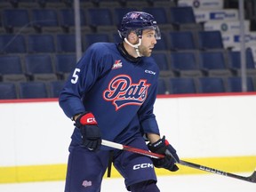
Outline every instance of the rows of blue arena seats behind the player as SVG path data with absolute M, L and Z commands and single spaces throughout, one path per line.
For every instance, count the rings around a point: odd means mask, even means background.
M 237 17 L 237 10 L 224 10 L 224 3 L 211 10 L 191 2 L 81 0 L 82 50 L 95 42 L 120 42 L 116 25 L 124 13 L 149 12 L 162 37 L 152 54 L 160 69 L 158 94 L 241 92 L 240 52 L 227 47 L 228 31 L 220 23 L 199 17 L 214 16 L 214 9 Z M 73 1 L 1 0 L 0 7 L 0 99 L 58 97 L 76 66 Z M 248 91 L 255 92 L 253 48 L 247 48 L 246 60 Z

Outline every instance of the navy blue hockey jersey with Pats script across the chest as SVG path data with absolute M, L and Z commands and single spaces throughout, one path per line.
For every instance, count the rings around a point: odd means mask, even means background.
M 147 132 L 159 134 L 153 113 L 158 74 L 150 57 L 132 62 L 117 44 L 92 44 L 60 92 L 60 107 L 69 118 L 92 112 L 103 140 L 125 143 Z

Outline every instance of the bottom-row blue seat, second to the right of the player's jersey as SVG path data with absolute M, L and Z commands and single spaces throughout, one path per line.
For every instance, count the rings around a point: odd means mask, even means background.
M 196 84 L 193 78 L 170 78 L 172 94 L 196 93 Z

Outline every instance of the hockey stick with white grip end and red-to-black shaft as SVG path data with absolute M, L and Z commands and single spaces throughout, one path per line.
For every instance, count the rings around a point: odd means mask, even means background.
M 150 151 L 143 150 L 143 149 L 140 149 L 140 148 L 133 148 L 133 147 L 130 147 L 130 146 L 125 146 L 125 145 L 122 145 L 122 144 L 119 144 L 119 143 L 116 143 L 116 142 L 112 142 L 112 141 L 108 141 L 108 140 L 102 140 L 101 144 L 104 145 L 104 146 L 108 146 L 110 148 L 117 148 L 117 149 L 120 149 L 120 150 L 126 150 L 126 151 L 130 151 L 132 153 L 137 153 L 137 154 L 140 154 L 140 155 L 143 155 L 143 156 L 150 156 L 152 158 L 164 158 L 164 155 L 161 155 L 161 154 L 152 153 Z M 211 167 L 207 167 L 207 166 L 204 166 L 204 165 L 201 165 L 201 164 L 194 164 L 194 163 L 190 163 L 190 162 L 183 161 L 183 160 L 180 160 L 179 164 L 184 165 L 184 166 L 188 166 L 188 167 L 191 167 L 191 168 L 194 168 L 194 169 L 197 169 L 197 170 L 201 170 L 201 171 L 204 171 L 204 172 L 212 172 L 212 173 L 215 173 L 215 174 L 220 174 L 222 176 L 235 178 L 237 180 L 245 180 L 245 181 L 248 181 L 248 182 L 256 183 L 256 170 L 254 172 L 252 172 L 251 176 L 244 177 L 244 176 L 241 176 L 241 175 L 236 175 L 236 174 L 229 173 L 229 172 L 223 172 L 223 171 L 220 171 L 220 170 L 217 170 L 217 169 L 213 169 Z

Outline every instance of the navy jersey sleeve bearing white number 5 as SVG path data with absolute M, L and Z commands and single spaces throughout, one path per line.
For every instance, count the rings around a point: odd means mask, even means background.
M 59 104 L 69 118 L 86 110 L 83 105 L 83 98 L 100 76 L 102 71 L 100 60 L 101 57 L 97 55 L 97 48 L 90 47 L 68 77 L 67 83 L 60 92 Z

